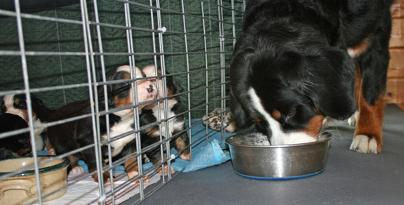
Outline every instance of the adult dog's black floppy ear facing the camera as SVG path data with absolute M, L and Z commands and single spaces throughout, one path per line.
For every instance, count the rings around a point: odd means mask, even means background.
M 337 48 L 323 48 L 307 57 L 302 69 L 304 92 L 325 116 L 347 119 L 356 110 L 355 65 L 347 53 Z

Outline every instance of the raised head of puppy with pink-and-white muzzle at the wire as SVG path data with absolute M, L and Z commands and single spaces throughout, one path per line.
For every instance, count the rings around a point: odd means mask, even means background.
M 135 67 L 135 74 L 137 78 L 145 77 L 145 75 L 140 71 L 138 67 Z M 120 79 L 130 79 L 130 66 L 123 65 L 116 68 L 116 70 L 111 70 L 107 73 L 107 81 L 120 80 Z M 133 105 L 132 96 L 132 82 L 112 84 L 108 86 L 110 105 L 114 107 L 123 107 L 126 105 Z M 156 86 L 149 80 L 137 80 L 136 81 L 137 90 L 137 102 L 147 102 L 149 100 L 156 99 L 157 90 Z M 100 91 L 99 91 L 100 92 Z M 139 108 L 142 109 L 145 105 L 140 105 Z

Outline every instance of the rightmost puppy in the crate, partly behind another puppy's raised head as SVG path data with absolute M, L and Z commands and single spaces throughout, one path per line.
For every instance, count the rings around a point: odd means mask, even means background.
M 161 69 L 157 70 L 158 74 L 156 75 L 156 69 L 154 65 L 148 65 L 142 68 L 142 72 L 144 72 L 144 74 L 146 74 L 147 77 L 156 77 L 158 75 L 161 76 Z M 155 84 L 157 84 L 156 79 L 150 79 L 150 80 L 153 81 Z M 158 86 L 157 85 L 156 86 L 159 88 L 158 92 L 159 98 L 163 98 L 164 87 L 161 77 L 159 77 L 157 81 Z M 182 90 L 183 90 L 182 86 L 172 76 L 166 77 L 168 116 L 166 117 L 166 113 L 164 112 L 164 103 L 163 100 L 161 100 L 160 108 L 158 105 L 155 105 L 154 107 L 147 107 L 142 110 L 142 113 L 140 114 L 140 126 L 141 127 L 147 126 L 156 121 L 159 121 L 159 109 L 161 120 L 168 119 L 168 121 L 166 123 L 162 122 L 161 126 L 159 126 L 159 124 L 156 124 L 149 128 L 145 128 L 140 132 L 140 136 L 141 136 L 142 148 L 159 142 L 160 133 L 163 139 L 171 138 L 170 146 L 175 147 L 175 149 L 178 152 L 180 152 L 179 156 L 181 159 L 189 161 L 191 160 L 191 155 L 190 155 L 190 148 L 188 147 L 189 138 L 187 134 L 187 128 L 185 128 L 185 119 L 184 115 L 182 114 L 184 110 L 182 109 L 180 96 L 176 95 L 178 93 L 181 93 Z M 135 151 L 136 147 L 134 143 L 128 144 L 125 148 L 126 153 L 132 153 Z M 161 153 L 160 146 L 157 146 L 156 148 L 150 150 L 149 152 L 144 154 L 144 157 L 146 157 L 145 162 L 152 161 L 153 164 L 160 163 L 162 161 L 160 153 Z M 165 168 L 164 173 L 167 174 L 168 173 L 167 165 L 165 165 L 164 168 Z M 157 171 L 160 174 L 163 173 L 161 166 L 157 168 Z M 171 173 L 174 172 L 175 172 L 174 168 L 171 167 Z

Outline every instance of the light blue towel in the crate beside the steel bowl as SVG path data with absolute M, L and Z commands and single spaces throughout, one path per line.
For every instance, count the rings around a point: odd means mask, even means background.
M 201 168 L 207 168 L 210 166 L 215 166 L 218 164 L 222 164 L 225 161 L 228 161 L 230 159 L 230 154 L 227 150 L 228 146 L 224 142 L 224 139 L 222 140 L 222 135 L 218 131 L 212 131 L 208 129 L 208 136 L 203 137 L 204 135 L 207 135 L 206 133 L 206 127 L 201 123 L 202 119 L 192 119 L 191 120 L 191 126 L 194 126 L 191 128 L 191 133 L 192 133 L 192 160 L 191 161 L 185 161 L 180 159 L 179 157 L 177 159 L 174 159 L 172 161 L 172 166 L 175 169 L 175 171 L 181 171 L 183 172 L 191 172 L 191 171 L 196 171 Z M 185 126 L 189 127 L 189 121 L 185 121 Z M 189 134 L 189 132 L 188 132 Z M 232 135 L 233 133 L 226 133 L 224 138 L 227 138 L 229 135 Z M 208 138 L 208 143 L 206 143 L 206 138 Z M 171 154 L 176 154 L 177 150 L 172 148 L 170 150 Z M 48 152 L 46 151 L 39 151 L 40 155 L 46 155 Z M 88 167 L 84 161 L 79 161 L 79 165 L 84 168 L 86 172 L 88 172 Z M 147 163 L 143 164 L 143 169 L 149 168 L 153 166 L 152 163 Z M 123 166 L 116 166 L 112 169 L 113 171 L 125 171 L 125 168 Z

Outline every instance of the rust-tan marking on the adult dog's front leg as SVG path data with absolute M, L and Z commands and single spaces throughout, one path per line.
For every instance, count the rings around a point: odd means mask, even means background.
M 356 135 L 367 135 L 377 142 L 377 152 L 382 152 L 384 93 L 376 100 L 375 105 L 369 105 L 363 97 L 361 69 L 356 68 L 355 97 L 358 105 L 358 121 L 356 122 Z

